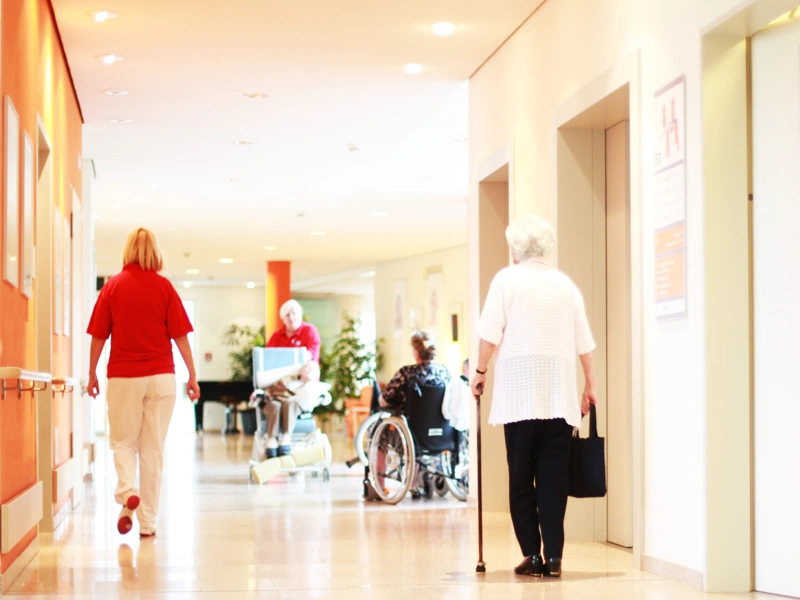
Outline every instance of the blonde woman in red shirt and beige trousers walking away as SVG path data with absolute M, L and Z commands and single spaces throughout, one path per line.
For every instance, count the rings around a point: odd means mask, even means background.
M 186 394 L 200 397 L 187 335 L 192 324 L 172 284 L 158 274 L 161 251 L 152 232 L 140 227 L 128 236 L 122 272 L 100 290 L 87 333 L 92 336 L 89 395 L 100 393 L 97 363 L 111 336 L 108 360 L 108 423 L 114 465 L 115 498 L 122 505 L 117 530 L 128 533 L 133 514 L 139 535 L 155 535 L 161 491 L 164 440 L 175 406 L 175 365 L 172 341 L 186 363 Z M 136 488 L 136 455 L 139 481 Z

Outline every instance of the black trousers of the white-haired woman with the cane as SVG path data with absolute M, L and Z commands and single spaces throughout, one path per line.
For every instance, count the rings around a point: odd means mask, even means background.
M 564 552 L 572 426 L 564 419 L 504 425 L 511 521 L 524 556 Z

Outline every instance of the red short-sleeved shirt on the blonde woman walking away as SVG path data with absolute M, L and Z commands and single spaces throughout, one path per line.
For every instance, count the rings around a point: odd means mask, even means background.
M 111 336 L 108 376 L 174 373 L 172 341 L 192 331 L 178 292 L 155 271 L 126 265 L 100 290 L 86 332 Z

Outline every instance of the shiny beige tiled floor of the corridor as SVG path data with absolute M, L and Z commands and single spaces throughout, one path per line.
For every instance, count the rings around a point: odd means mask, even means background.
M 508 519 L 497 517 L 485 520 L 488 572 L 477 575 L 476 515 L 451 497 L 364 504 L 359 470 L 343 464 L 330 482 L 280 476 L 255 486 L 246 465 L 251 438 L 195 438 L 189 423 L 179 406 L 156 538 L 117 533 L 105 451 L 86 502 L 55 535 L 41 536 L 38 557 L 11 593 L 59 600 L 769 597 L 706 596 L 632 570 L 630 553 L 604 544 L 569 544 L 561 581 L 515 576 L 518 548 Z

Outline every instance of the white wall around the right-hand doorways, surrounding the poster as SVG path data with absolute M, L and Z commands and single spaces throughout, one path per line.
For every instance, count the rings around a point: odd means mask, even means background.
M 548 0 L 470 80 L 470 168 L 513 140 L 515 214 L 552 219 L 555 107 L 641 54 L 645 318 L 644 553 L 705 568 L 705 297 L 701 32 L 740 0 Z M 777 16 L 777 15 L 776 15 Z M 653 97 L 686 75 L 689 317 L 655 324 L 651 161 Z M 470 198 L 470 201 L 474 201 Z M 634 226 L 639 224 L 634 224 Z M 498 240 L 503 243 L 503 240 Z M 476 265 L 470 265 L 477 268 Z M 636 399 L 635 399 L 636 400 Z

